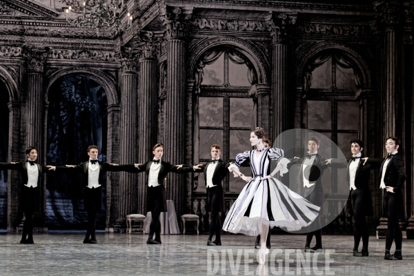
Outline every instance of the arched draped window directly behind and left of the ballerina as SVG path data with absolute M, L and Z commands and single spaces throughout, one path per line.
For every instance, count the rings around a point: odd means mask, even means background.
M 253 99 L 248 92 L 257 83 L 257 73 L 239 50 L 217 46 L 202 55 L 195 73 L 197 95 L 195 143 L 201 163 L 211 159 L 210 146 L 221 146 L 221 159 L 235 160 L 237 153 L 250 149 L 253 129 Z M 250 169 L 242 168 L 247 175 Z M 204 177 L 199 177 L 195 192 L 204 193 Z M 239 193 L 244 184 L 234 177 L 223 181 L 225 192 Z

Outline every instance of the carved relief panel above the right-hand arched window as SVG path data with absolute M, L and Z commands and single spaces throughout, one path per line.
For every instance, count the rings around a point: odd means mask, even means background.
M 297 32 L 303 34 L 324 34 L 333 36 L 346 36 L 346 37 L 371 37 L 373 30 L 371 26 L 366 25 L 348 25 L 348 24 L 326 24 L 326 23 L 299 23 L 297 26 Z

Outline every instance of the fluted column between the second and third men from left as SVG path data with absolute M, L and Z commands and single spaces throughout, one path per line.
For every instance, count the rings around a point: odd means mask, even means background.
M 119 163 L 138 163 L 137 150 L 137 55 L 132 49 L 119 54 L 121 61 L 121 120 Z M 126 215 L 137 213 L 137 175 L 128 172 L 119 174 L 119 208 L 114 231 L 123 232 L 126 228 Z

